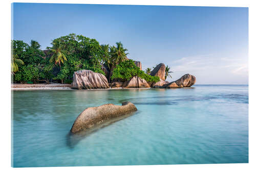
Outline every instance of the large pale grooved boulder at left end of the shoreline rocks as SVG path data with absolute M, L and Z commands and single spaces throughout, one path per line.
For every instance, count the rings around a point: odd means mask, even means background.
M 83 69 L 74 72 L 71 88 L 79 90 L 102 89 L 109 88 L 109 83 L 104 75 L 92 70 Z

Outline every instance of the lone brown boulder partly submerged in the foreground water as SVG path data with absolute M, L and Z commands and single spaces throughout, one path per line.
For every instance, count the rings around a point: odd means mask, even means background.
M 71 132 L 76 133 L 81 130 L 88 130 L 95 125 L 100 125 L 106 120 L 117 118 L 136 111 L 137 108 L 131 102 L 123 102 L 122 106 L 105 104 L 98 107 L 89 107 L 78 115 Z

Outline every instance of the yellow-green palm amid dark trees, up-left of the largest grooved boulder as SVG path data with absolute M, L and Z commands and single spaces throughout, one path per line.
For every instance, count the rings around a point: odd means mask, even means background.
M 55 39 L 52 42 L 52 48 L 50 49 L 51 53 L 53 54 L 50 62 L 55 62 L 55 65 L 59 65 L 59 68 L 61 70 L 61 63 L 63 64 L 64 61 L 67 61 L 67 58 L 65 56 L 65 54 L 63 53 L 63 48 L 64 46 L 61 44 L 60 40 Z

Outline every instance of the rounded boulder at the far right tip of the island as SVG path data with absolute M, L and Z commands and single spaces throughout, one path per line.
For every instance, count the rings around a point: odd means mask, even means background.
M 161 86 L 160 88 L 182 88 L 182 87 L 190 87 L 196 83 L 196 77 L 193 75 L 186 74 L 182 76 L 180 79 L 170 82 Z

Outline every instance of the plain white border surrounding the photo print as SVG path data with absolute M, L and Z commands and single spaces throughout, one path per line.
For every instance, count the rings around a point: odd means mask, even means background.
M 172 6 L 215 6 L 215 7 L 249 7 L 249 163 L 248 164 L 189 164 L 189 165 L 143 165 L 143 166 L 86 166 L 86 167 L 47 167 L 47 169 L 254 169 L 255 163 L 255 13 L 253 1 L 68 1 L 68 0 L 33 0 L 1 1 L 1 163 L 2 169 L 11 168 L 11 88 L 10 88 L 10 40 L 11 40 L 11 3 L 62 3 L 62 4 L 126 4 L 126 5 L 172 5 Z M 254 167 L 255 166 L 255 167 Z M 4 167 L 4 168 L 3 168 Z M 34 168 L 23 168 L 34 169 Z M 45 168 L 42 168 L 45 169 Z

